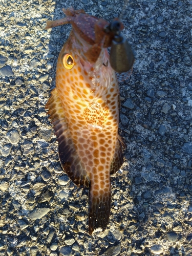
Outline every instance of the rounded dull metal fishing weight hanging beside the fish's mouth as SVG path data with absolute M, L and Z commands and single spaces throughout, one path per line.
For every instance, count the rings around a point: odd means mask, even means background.
M 129 42 L 120 33 L 120 23 L 115 20 L 106 27 L 106 31 L 114 33 L 112 40 L 110 63 L 111 67 L 118 73 L 123 73 L 131 70 L 135 57 Z

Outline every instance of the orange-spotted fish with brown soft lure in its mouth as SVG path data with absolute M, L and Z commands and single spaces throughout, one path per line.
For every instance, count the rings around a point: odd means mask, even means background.
M 123 163 L 124 144 L 118 135 L 119 86 L 106 49 L 114 33 L 106 30 L 108 22 L 83 10 L 63 12 L 67 17 L 48 20 L 46 27 L 72 25 L 58 57 L 56 88 L 46 109 L 54 125 L 62 168 L 77 186 L 90 188 L 92 234 L 108 225 L 110 175 Z

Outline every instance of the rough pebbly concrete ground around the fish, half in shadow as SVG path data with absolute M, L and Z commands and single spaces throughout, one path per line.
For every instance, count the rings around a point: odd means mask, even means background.
M 92 237 L 88 190 L 63 173 L 45 110 L 71 26 L 44 27 L 70 6 L 122 14 L 136 58 L 110 221 Z M 192 255 L 192 1 L 1 0 L 0 13 L 0 255 Z

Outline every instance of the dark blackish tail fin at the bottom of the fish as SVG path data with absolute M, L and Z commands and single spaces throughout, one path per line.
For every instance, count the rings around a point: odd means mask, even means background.
M 104 231 L 109 222 L 111 209 L 111 186 L 108 192 L 90 188 L 89 195 L 89 233 Z

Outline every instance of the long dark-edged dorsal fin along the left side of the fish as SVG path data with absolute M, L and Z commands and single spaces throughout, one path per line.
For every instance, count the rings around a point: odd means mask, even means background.
M 84 185 L 89 187 L 89 176 L 76 152 L 56 88 L 51 92 L 46 109 L 49 110 L 49 118 L 52 119 L 55 135 L 59 143 L 59 159 L 62 168 L 77 186 Z

